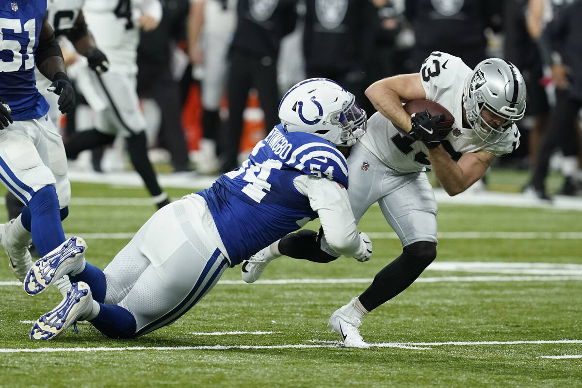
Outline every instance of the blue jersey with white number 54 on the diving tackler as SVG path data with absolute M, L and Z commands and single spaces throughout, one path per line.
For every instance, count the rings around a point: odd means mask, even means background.
M 231 265 L 317 218 L 293 180 L 314 175 L 347 188 L 347 163 L 327 140 L 287 133 L 281 124 L 255 145 L 243 165 L 204 191 Z

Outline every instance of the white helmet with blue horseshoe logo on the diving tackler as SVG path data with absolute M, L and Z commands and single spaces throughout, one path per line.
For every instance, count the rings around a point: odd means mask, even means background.
M 313 133 L 346 147 L 364 135 L 368 121 L 356 97 L 326 78 L 311 78 L 290 88 L 278 113 L 286 131 Z

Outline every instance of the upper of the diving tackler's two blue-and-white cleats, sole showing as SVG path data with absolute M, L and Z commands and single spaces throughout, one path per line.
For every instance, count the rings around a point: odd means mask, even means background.
M 83 264 L 87 244 L 81 237 L 71 237 L 60 247 L 38 259 L 24 279 L 24 292 L 36 296 L 64 275 Z

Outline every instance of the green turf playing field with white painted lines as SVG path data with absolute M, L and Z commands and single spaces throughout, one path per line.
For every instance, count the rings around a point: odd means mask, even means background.
M 73 197 L 65 232 L 86 237 L 101 268 L 154 211 L 141 188 L 73 183 Z M 580 386 L 582 358 L 545 357 L 582 357 L 582 212 L 439 205 L 438 220 L 437 261 L 364 319 L 369 350 L 341 347 L 327 320 L 400 253 L 378 207 L 360 223 L 371 261 L 282 258 L 252 285 L 228 269 L 179 321 L 136 340 L 87 323 L 30 340 L 60 294 L 27 297 L 1 252 L 0 387 Z

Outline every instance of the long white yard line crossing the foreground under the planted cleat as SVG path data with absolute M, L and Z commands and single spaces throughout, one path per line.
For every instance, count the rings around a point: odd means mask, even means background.
M 581 344 L 582 340 L 534 340 L 534 341 L 450 341 L 450 342 L 387 342 L 370 344 L 377 348 L 403 348 L 411 350 L 431 350 L 428 346 L 482 346 L 482 345 L 519 345 L 519 344 Z M 229 350 L 229 349 L 310 349 L 339 348 L 340 342 L 332 344 L 286 344 L 286 345 L 212 345 L 212 346 L 132 346 L 132 347 L 68 347 L 68 348 L 0 348 L 0 353 L 57 353 L 93 351 L 180 351 L 180 350 Z M 548 356 L 559 357 L 559 356 Z M 582 357 L 582 356 L 581 356 Z M 573 357 L 574 358 L 574 357 Z

